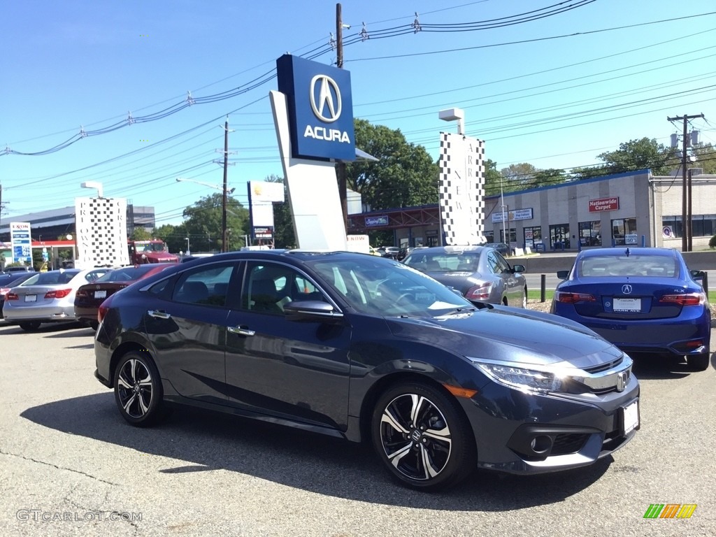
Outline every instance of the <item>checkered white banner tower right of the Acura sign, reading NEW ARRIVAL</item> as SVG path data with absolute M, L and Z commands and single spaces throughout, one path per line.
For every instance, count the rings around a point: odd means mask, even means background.
M 440 132 L 440 220 L 446 245 L 485 239 L 485 142 Z

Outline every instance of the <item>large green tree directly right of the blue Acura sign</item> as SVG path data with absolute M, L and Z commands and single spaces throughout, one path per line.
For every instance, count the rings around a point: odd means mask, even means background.
M 372 211 L 437 203 L 440 168 L 400 130 L 354 120 L 356 146 L 378 159 L 346 166 L 347 185 Z

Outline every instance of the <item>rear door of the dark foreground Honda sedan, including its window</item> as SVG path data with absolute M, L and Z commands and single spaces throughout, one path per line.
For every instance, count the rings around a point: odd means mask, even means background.
M 145 331 L 162 377 L 184 397 L 227 403 L 226 297 L 237 269 L 238 263 L 224 261 L 184 271 L 166 299 L 148 304 Z

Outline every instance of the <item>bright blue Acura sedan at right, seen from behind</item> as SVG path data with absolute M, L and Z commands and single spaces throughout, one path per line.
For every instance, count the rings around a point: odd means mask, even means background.
M 594 330 L 629 354 L 710 362 L 711 314 L 701 284 L 669 248 L 600 248 L 579 253 L 556 288 L 552 313 Z

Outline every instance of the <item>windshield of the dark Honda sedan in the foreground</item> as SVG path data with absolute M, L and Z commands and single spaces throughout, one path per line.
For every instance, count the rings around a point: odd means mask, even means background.
M 336 258 L 312 264 L 326 284 L 364 314 L 434 317 L 475 307 L 430 276 L 384 258 Z

